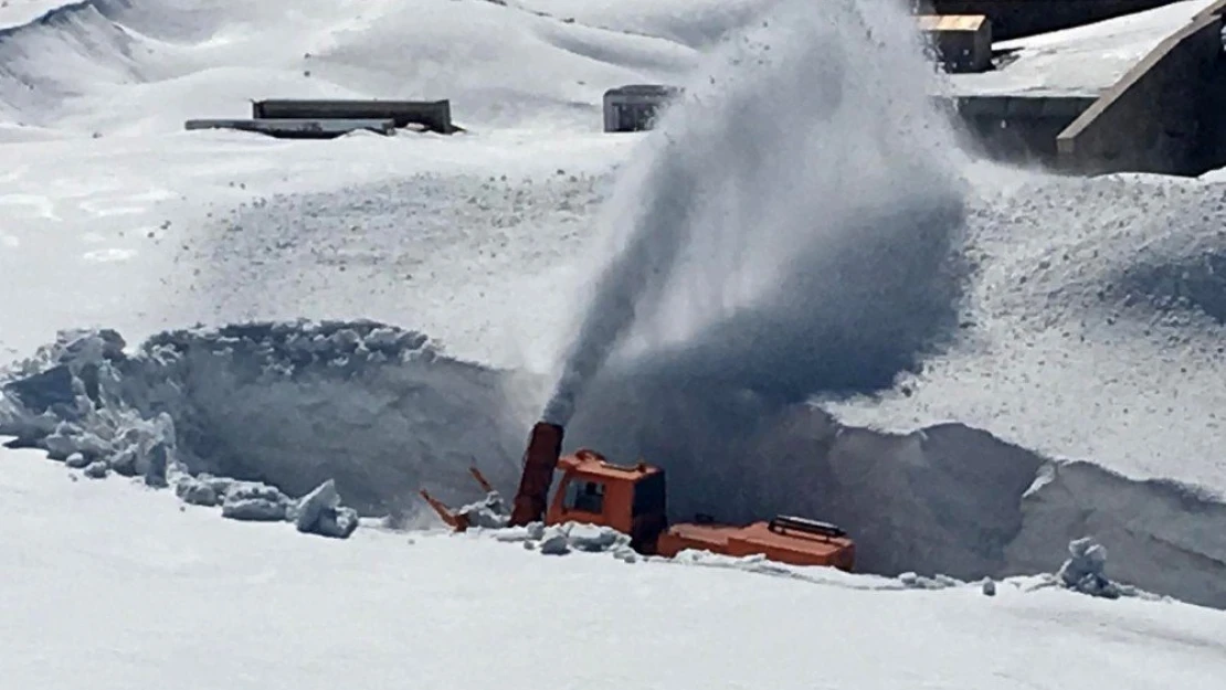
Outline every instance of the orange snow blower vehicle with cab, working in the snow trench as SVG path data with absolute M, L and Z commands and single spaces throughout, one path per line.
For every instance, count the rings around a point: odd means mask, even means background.
M 524 473 L 511 506 L 509 526 L 581 522 L 611 527 L 630 537 L 630 547 L 644 555 L 672 558 L 685 549 L 729 556 L 763 555 L 791 565 L 828 565 L 850 571 L 856 544 L 847 533 L 828 522 L 776 516 L 738 527 L 717 525 L 709 516 L 669 525 L 664 471 L 639 462 L 614 464 L 596 451 L 582 449 L 562 457 L 563 429 L 538 422 L 524 453 Z M 553 501 L 549 488 L 557 469 L 563 471 Z M 493 488 L 477 468 L 473 477 L 487 493 Z M 424 489 L 422 498 L 452 529 L 463 532 L 468 517 L 449 509 Z

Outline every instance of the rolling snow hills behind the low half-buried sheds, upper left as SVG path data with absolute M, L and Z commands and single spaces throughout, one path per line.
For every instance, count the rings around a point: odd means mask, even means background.
M 110 136 L 242 116 L 255 98 L 449 98 L 456 119 L 478 129 L 592 131 L 604 88 L 679 78 L 695 58 L 672 40 L 482 0 L 333 0 L 318 10 L 287 16 L 238 0 L 66 5 L 0 39 L 0 118 Z M 503 40 L 487 44 L 493 32 Z M 456 44 L 481 48 L 457 53 Z

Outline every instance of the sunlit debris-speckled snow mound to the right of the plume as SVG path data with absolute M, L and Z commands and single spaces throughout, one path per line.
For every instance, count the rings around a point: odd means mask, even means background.
M 966 214 L 960 337 L 881 396 L 823 404 L 1226 490 L 1226 185 L 999 175 Z

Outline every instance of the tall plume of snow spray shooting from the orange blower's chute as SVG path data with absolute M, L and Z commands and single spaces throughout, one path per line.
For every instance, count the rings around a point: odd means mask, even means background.
M 781 2 L 707 74 L 611 200 L 547 420 L 618 354 L 693 402 L 889 386 L 954 319 L 955 140 L 901 2 Z

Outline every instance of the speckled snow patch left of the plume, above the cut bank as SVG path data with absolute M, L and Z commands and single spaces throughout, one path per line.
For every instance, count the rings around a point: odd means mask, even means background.
M 537 348 L 510 341 L 553 335 L 546 317 L 566 298 L 555 272 L 591 234 L 609 181 L 570 163 L 532 176 L 432 172 L 260 196 L 175 249 L 175 263 L 192 268 L 175 303 L 212 324 L 412 319 L 452 354 L 519 364 L 506 362 L 512 349 Z M 524 322 L 536 332 L 515 327 Z

